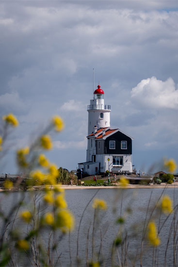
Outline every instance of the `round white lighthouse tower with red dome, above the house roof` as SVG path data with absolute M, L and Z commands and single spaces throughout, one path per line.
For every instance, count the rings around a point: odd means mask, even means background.
M 104 91 L 97 85 L 94 98 L 88 105 L 88 134 L 92 134 L 94 129 L 110 127 L 111 106 L 104 104 Z

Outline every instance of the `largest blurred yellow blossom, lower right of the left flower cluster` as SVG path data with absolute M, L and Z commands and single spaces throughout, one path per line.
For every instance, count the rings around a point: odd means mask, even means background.
M 63 233 L 72 230 L 74 227 L 74 217 L 68 210 L 61 210 L 56 216 L 56 226 L 61 229 Z

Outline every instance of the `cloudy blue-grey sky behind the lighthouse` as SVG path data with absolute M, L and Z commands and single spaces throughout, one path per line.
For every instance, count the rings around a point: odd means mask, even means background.
M 57 167 L 86 160 L 88 112 L 99 82 L 111 127 L 131 135 L 136 169 L 178 163 L 178 1 L 0 1 L 0 117 L 8 136 L 0 173 L 16 173 L 54 115 L 65 129 L 46 153 Z M 2 121 L 1 121 L 2 123 Z

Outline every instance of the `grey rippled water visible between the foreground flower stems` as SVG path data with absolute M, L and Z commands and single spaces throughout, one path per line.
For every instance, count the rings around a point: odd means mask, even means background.
M 78 227 L 81 220 L 82 213 L 92 199 L 92 197 L 97 193 L 96 197 L 99 199 L 104 199 L 107 201 L 108 209 L 107 211 L 100 211 L 96 218 L 95 223 L 95 250 L 94 255 L 100 250 L 100 260 L 104 258 L 102 266 L 111 266 L 111 248 L 113 240 L 118 233 L 119 226 L 116 224 L 116 219 L 120 216 L 126 217 L 123 231 L 128 233 L 128 247 L 124 248 L 127 250 L 128 262 L 125 265 L 132 266 L 133 261 L 135 266 L 140 266 L 139 255 L 140 255 L 140 245 L 142 229 L 146 216 L 146 209 L 148 201 L 151 195 L 150 208 L 155 204 L 162 194 L 162 188 L 140 188 L 140 189 L 79 189 L 79 190 L 66 190 L 65 197 L 68 203 L 69 209 L 75 216 L 76 227 L 75 230 L 69 235 L 65 235 L 62 240 L 59 239 L 60 234 L 56 234 L 57 240 L 59 240 L 58 253 L 61 254 L 60 262 L 62 266 L 77 266 L 76 255 L 77 255 L 77 235 Z M 178 204 L 178 188 L 167 188 L 164 192 L 174 199 L 175 205 Z M 15 203 L 20 199 L 23 193 L 15 192 L 11 193 L 4 198 L 4 194 L 0 194 L 0 203 L 2 210 L 7 214 L 10 212 L 12 207 L 12 201 Z M 30 197 L 34 193 L 25 192 L 25 201 L 27 206 L 30 203 Z M 35 192 L 36 195 L 43 193 Z M 40 198 L 40 197 L 39 197 Z M 41 201 L 41 200 L 39 200 Z M 38 201 L 38 203 L 39 203 Z M 79 259 L 81 259 L 81 266 L 86 266 L 86 247 L 88 246 L 88 258 L 92 258 L 92 233 L 93 233 L 93 221 L 94 221 L 94 209 L 92 208 L 92 202 L 88 205 L 83 218 L 81 220 L 81 229 L 79 234 Z M 131 214 L 126 212 L 127 209 L 131 209 Z M 43 211 L 46 212 L 47 210 Z M 148 212 L 149 214 L 149 212 Z M 160 226 L 165 220 L 165 216 L 160 218 Z M 173 215 L 171 215 L 165 222 L 160 238 L 161 245 L 154 250 L 157 254 L 156 266 L 164 266 L 164 255 L 167 246 L 167 240 L 169 236 L 169 231 L 171 229 Z M 155 219 L 158 221 L 159 214 L 155 215 Z M 177 222 L 177 221 L 176 221 Z M 17 220 L 18 226 L 22 229 L 24 226 L 21 224 L 20 220 Z M 173 227 L 173 226 L 172 226 Z M 176 229 L 176 226 L 175 226 Z M 25 232 L 25 230 L 24 230 Z M 89 233 L 89 238 L 87 234 Z M 41 233 L 43 239 L 42 242 L 47 243 L 49 232 L 44 230 Z M 176 239 L 177 240 L 176 233 Z M 101 242 L 102 239 L 102 242 Z M 146 242 L 145 242 L 146 243 Z M 69 245 L 70 244 L 70 245 Z M 176 243 L 175 243 L 176 244 Z M 177 247 L 176 247 L 177 250 Z M 121 251 L 119 251 L 119 258 L 121 259 Z M 173 266 L 173 238 L 171 237 L 168 244 L 167 255 L 166 255 L 166 265 L 169 267 Z M 144 247 L 143 254 L 143 266 L 151 267 L 155 264 L 152 262 L 153 249 L 149 246 Z M 71 257 L 71 258 L 70 258 Z M 114 266 L 119 265 L 118 255 L 114 255 Z M 23 258 L 18 262 L 18 266 L 23 266 Z M 60 263 L 58 262 L 59 266 Z

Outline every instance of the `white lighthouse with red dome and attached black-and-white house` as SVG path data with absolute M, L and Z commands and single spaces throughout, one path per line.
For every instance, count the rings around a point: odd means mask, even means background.
M 79 163 L 82 175 L 132 173 L 132 140 L 122 130 L 110 127 L 111 106 L 104 103 L 104 91 L 98 84 L 90 100 L 86 162 Z

